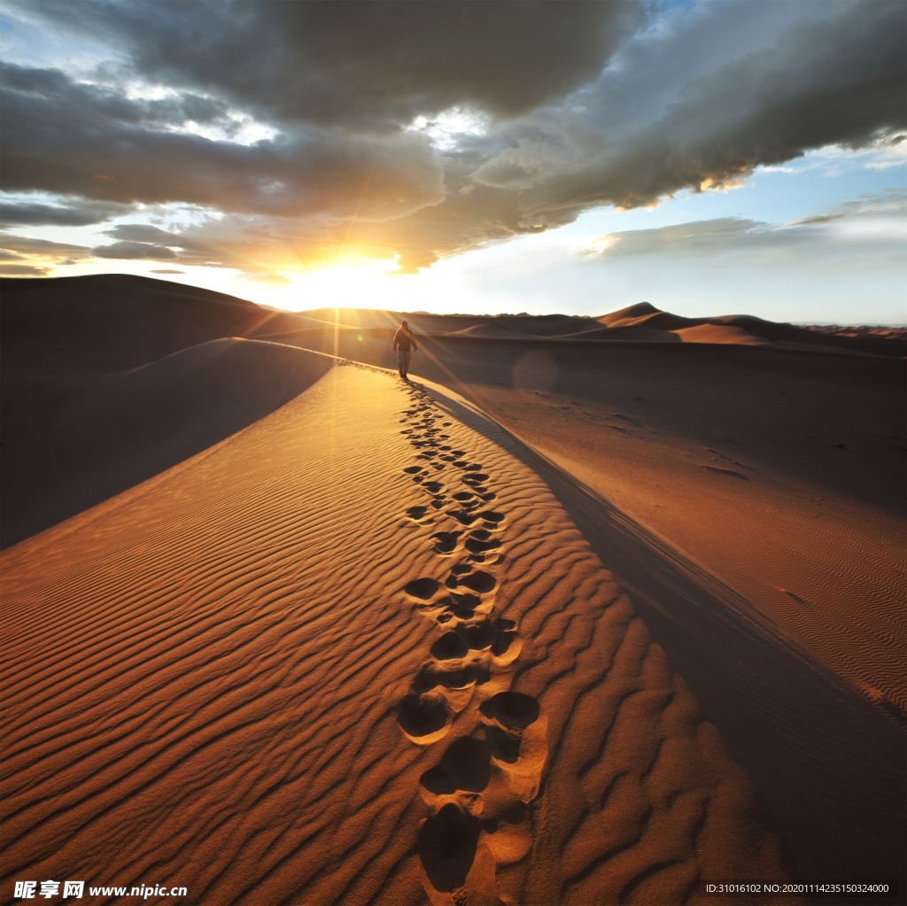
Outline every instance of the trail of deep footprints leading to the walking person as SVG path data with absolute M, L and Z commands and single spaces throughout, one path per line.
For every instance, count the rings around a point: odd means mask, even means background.
M 420 778 L 430 809 L 417 843 L 423 884 L 438 906 L 502 903 L 498 866 L 521 860 L 532 846 L 529 806 L 548 754 L 547 721 L 534 698 L 510 691 L 522 641 L 515 622 L 494 615 L 507 514 L 489 509 L 497 498 L 492 476 L 468 451 L 444 443 L 451 423 L 429 395 L 414 386 L 409 394 L 401 434 L 416 464 L 403 472 L 431 496 L 435 514 L 426 518 L 431 510 L 414 506 L 406 515 L 434 522 L 432 550 L 450 563 L 444 580 L 417 578 L 403 589 L 437 634 L 397 722 L 415 745 L 453 736 Z

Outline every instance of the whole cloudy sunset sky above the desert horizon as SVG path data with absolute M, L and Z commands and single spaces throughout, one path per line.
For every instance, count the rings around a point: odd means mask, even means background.
M 904 0 L 0 0 L 0 274 L 907 324 Z

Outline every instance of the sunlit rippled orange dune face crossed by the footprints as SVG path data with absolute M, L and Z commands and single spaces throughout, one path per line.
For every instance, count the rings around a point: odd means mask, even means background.
M 552 906 L 783 876 L 629 599 L 440 399 L 337 365 L 7 551 L 4 890 Z

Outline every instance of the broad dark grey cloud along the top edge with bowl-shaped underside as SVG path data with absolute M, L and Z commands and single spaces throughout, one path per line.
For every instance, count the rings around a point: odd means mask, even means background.
M 473 104 L 512 116 L 594 78 L 636 0 L 18 0 L 106 36 L 134 71 L 215 93 L 268 120 L 385 130 Z

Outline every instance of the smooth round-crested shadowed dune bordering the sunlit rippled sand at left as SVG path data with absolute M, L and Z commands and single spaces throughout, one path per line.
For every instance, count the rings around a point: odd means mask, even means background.
M 233 338 L 80 382 L 5 455 L 4 546 L 229 437 L 329 367 L 327 356 Z

